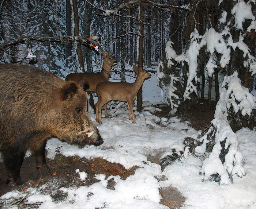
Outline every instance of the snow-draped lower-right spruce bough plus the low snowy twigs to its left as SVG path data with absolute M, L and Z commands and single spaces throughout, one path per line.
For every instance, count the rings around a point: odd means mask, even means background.
M 229 125 L 229 111 L 240 111 L 243 116 L 251 115 L 256 109 L 256 98 L 242 86 L 238 73 L 225 76 L 220 99 L 216 105 L 215 118 L 196 138 L 187 137 L 184 144 L 195 156 L 202 156 L 203 181 L 217 181 L 220 184 L 233 183 L 233 176 L 246 174 L 242 166 L 243 156 L 236 133 Z M 170 147 L 161 158 L 162 169 L 185 154 L 184 150 Z M 183 154 L 183 155 L 182 155 Z M 184 156 L 185 157 L 185 156 Z

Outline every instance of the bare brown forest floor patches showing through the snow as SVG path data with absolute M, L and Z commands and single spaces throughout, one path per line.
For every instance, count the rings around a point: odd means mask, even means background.
M 179 112 L 177 117 L 182 122 L 190 121 L 190 126 L 196 130 L 203 130 L 205 126 L 210 124 L 210 121 L 214 118 L 215 105 L 211 105 L 209 108 L 207 102 L 198 103 L 197 107 L 192 107 L 189 111 Z M 170 107 L 165 105 L 158 106 L 162 109 L 161 112 L 154 113 L 159 117 L 166 117 L 170 111 Z M 154 163 L 160 163 L 159 156 L 148 156 L 148 161 Z M 125 169 L 121 164 L 110 163 L 104 159 L 86 159 L 79 157 L 65 157 L 57 154 L 53 160 L 48 161 L 49 169 L 36 170 L 35 158 L 30 156 L 25 158 L 20 170 L 20 176 L 24 182 L 24 185 L 15 185 L 12 182 L 8 185 L 6 182 L 6 170 L 3 163 L 0 163 L 0 196 L 13 190 L 26 190 L 29 187 L 39 187 L 40 185 L 46 185 L 40 192 L 42 194 L 50 194 L 56 202 L 64 201 L 67 194 L 60 193 L 61 187 L 80 187 L 89 186 L 98 180 L 94 178 L 95 174 L 104 174 L 106 178 L 110 175 L 120 175 L 122 179 L 126 179 L 129 175 L 132 175 L 136 167 L 131 169 Z M 86 181 L 80 181 L 79 174 L 75 172 L 76 169 L 85 171 L 87 173 Z M 114 189 L 115 182 L 113 179 L 108 181 L 108 189 Z M 180 208 L 185 201 L 176 188 L 168 187 L 160 190 L 162 200 L 161 204 L 168 206 L 170 209 Z M 19 208 L 39 208 L 39 205 L 28 206 L 22 200 L 19 203 Z M 17 203 L 17 204 L 18 204 Z M 0 208 L 1 208 L 0 203 Z

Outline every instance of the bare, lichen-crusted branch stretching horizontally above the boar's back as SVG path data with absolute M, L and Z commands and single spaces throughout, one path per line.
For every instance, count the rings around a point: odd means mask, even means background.
M 85 36 L 42 36 L 42 35 L 27 35 L 19 36 L 18 38 L 10 41 L 6 41 L 0 44 L 0 51 L 8 49 L 11 46 L 20 43 L 27 43 L 32 41 L 38 42 L 60 42 L 60 43 L 72 43 L 80 42 L 83 44 L 90 44 L 90 41 Z

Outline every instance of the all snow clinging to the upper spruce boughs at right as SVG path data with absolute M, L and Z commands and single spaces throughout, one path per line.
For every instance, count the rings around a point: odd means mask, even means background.
M 222 4 L 222 0 L 219 1 L 219 5 Z M 166 61 L 167 67 L 171 68 L 175 66 L 176 61 L 180 63 L 180 65 L 184 66 L 186 62 L 188 65 L 188 79 L 187 86 L 185 86 L 185 92 L 183 98 L 177 97 L 176 91 L 177 89 L 173 88 L 173 81 L 178 78 L 174 78 L 172 73 L 166 73 L 163 70 L 163 61 L 158 63 L 157 73 L 158 73 L 158 85 L 161 86 L 162 89 L 166 91 L 166 100 L 170 101 L 170 104 L 175 107 L 174 104 L 177 104 L 179 100 L 191 99 L 190 94 L 195 92 L 197 93 L 197 81 L 199 80 L 199 69 L 197 60 L 200 59 L 199 52 L 203 50 L 206 46 L 206 50 L 204 53 L 210 53 L 209 60 L 206 64 L 206 71 L 208 76 L 211 77 L 214 73 L 215 68 L 217 68 L 217 62 L 215 61 L 216 54 L 221 54 L 221 58 L 218 60 L 220 66 L 225 68 L 227 64 L 229 64 L 231 59 L 231 48 L 235 51 L 237 48 L 244 52 L 243 57 L 243 65 L 245 68 L 249 69 L 252 75 L 256 74 L 256 59 L 251 54 L 248 46 L 243 42 L 244 40 L 244 31 L 251 32 L 251 30 L 256 28 L 255 16 L 252 13 L 251 4 L 255 4 L 255 1 L 248 1 L 245 3 L 243 0 L 238 0 L 237 4 L 231 9 L 231 13 L 234 15 L 234 25 L 236 27 L 239 34 L 239 40 L 233 38 L 231 35 L 231 22 L 226 23 L 227 11 L 222 12 L 222 16 L 219 20 L 219 23 L 223 24 L 223 28 L 217 32 L 213 27 L 207 28 L 206 32 L 203 35 L 199 35 L 196 28 L 190 35 L 190 40 L 187 43 L 187 47 L 181 54 L 177 54 L 173 49 L 173 42 L 171 40 L 166 43 Z M 243 28 L 243 23 L 245 20 L 252 20 L 251 24 L 248 28 Z M 228 38 L 227 38 L 228 37 Z M 217 60 L 217 58 L 216 58 Z M 162 69 L 161 69 L 162 68 Z M 218 69 L 220 71 L 220 69 Z M 170 77 L 170 78 L 169 78 Z M 165 86 L 162 80 L 168 79 L 170 80 L 170 84 Z M 205 89 L 207 90 L 207 89 Z M 173 101 L 176 101 L 174 103 Z

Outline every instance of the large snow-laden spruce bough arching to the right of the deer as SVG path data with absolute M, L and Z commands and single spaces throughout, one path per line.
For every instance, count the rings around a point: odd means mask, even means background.
M 239 49 L 244 52 L 244 61 L 243 65 L 249 71 L 251 71 L 251 75 L 256 74 L 256 59 L 251 54 L 248 46 L 243 42 L 244 36 L 240 34 L 239 40 L 237 42 L 233 41 L 232 38 L 225 39 L 225 35 L 229 35 L 232 37 L 229 30 L 223 30 L 222 32 L 215 31 L 214 28 L 209 28 L 206 30 L 205 34 L 203 36 L 200 36 L 198 31 L 194 29 L 194 31 L 191 33 L 191 39 L 189 40 L 189 43 L 187 45 L 187 48 L 181 53 L 177 54 L 176 51 L 172 47 L 172 42 L 168 41 L 166 43 L 166 61 L 167 61 L 167 67 L 171 68 L 175 65 L 175 63 L 180 63 L 181 66 L 184 66 L 184 63 L 188 64 L 188 80 L 187 80 L 187 86 L 184 86 L 185 92 L 183 95 L 183 99 L 190 99 L 191 93 L 195 92 L 197 95 L 197 71 L 198 71 L 198 63 L 197 59 L 199 56 L 200 50 L 203 49 L 203 47 L 207 47 L 207 52 L 210 53 L 209 60 L 206 64 L 206 70 L 208 72 L 208 76 L 211 77 L 214 73 L 214 68 L 217 67 L 216 60 L 214 59 L 214 53 L 217 52 L 221 55 L 221 58 L 219 60 L 220 66 L 222 68 L 226 67 L 227 64 L 230 62 L 230 54 L 231 49 L 234 51 L 236 49 Z M 246 59 L 247 58 L 247 59 Z M 159 64 L 160 65 L 160 64 Z M 159 67 L 158 71 L 158 78 L 159 80 L 165 79 L 166 76 L 162 69 Z M 158 83 L 159 84 L 159 83 Z M 162 84 L 163 85 L 163 84 Z M 172 86 L 169 86 L 167 89 L 169 89 Z M 172 100 L 172 94 L 168 95 L 170 100 Z M 174 99 L 177 100 L 176 95 L 174 95 Z M 182 98 L 179 98 L 180 100 Z

